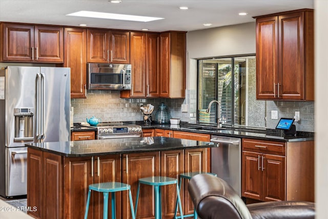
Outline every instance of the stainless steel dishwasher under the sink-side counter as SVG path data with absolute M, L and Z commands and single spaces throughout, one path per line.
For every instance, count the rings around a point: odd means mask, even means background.
M 211 136 L 218 147 L 211 149 L 211 172 L 226 181 L 241 196 L 240 138 Z

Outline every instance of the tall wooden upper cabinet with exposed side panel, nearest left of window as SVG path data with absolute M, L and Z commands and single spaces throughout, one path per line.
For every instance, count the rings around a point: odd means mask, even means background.
M 186 33 L 161 33 L 159 50 L 159 96 L 170 98 L 185 97 Z

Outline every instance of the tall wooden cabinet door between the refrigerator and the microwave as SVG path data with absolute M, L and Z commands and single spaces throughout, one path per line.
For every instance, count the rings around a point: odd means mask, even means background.
M 87 98 L 87 29 L 64 29 L 64 67 L 71 68 L 71 98 Z

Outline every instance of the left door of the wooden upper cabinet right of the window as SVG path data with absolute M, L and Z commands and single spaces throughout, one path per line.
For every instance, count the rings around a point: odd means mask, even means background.
M 256 98 L 277 98 L 277 87 L 278 17 L 258 18 L 256 19 Z

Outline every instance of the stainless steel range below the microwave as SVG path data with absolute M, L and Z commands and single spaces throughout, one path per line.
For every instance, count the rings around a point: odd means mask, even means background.
M 98 123 L 97 139 L 141 137 L 141 126 L 124 123 Z

